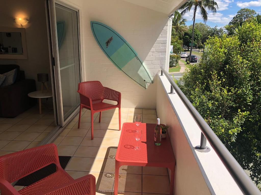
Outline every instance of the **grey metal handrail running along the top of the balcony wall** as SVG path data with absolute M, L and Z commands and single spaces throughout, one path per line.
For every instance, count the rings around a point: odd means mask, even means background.
M 233 157 L 233 155 L 228 151 L 226 146 L 220 141 L 217 135 L 213 132 L 210 126 L 206 123 L 203 117 L 198 113 L 195 107 L 191 104 L 188 98 L 183 94 L 181 89 L 169 76 L 167 71 L 164 69 L 165 66 L 161 66 L 161 75 L 164 75 L 169 80 L 171 87 L 173 87 L 176 93 L 179 95 L 182 102 L 185 104 L 195 121 L 198 123 L 198 126 L 201 129 L 201 132 L 206 136 L 207 140 L 213 147 L 213 149 L 218 154 L 219 158 L 223 161 L 223 164 L 227 167 L 227 170 L 232 175 L 241 191 L 244 194 L 251 195 L 260 195 L 261 192 L 258 190 L 257 186 L 253 183 L 250 177 L 246 174 L 243 168 L 239 165 L 238 161 Z

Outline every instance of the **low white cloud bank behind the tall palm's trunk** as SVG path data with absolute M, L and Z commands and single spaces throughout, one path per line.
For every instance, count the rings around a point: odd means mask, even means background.
M 214 22 L 214 23 L 220 23 L 220 24 L 228 24 L 234 16 L 235 15 L 232 15 L 232 14 L 230 14 L 228 16 L 224 16 L 222 13 L 217 12 L 215 15 L 209 14 L 207 16 L 207 21 Z M 187 12 L 186 14 L 184 14 L 183 17 L 186 18 L 187 20 L 192 20 L 193 9 L 191 9 L 190 12 Z M 197 10 L 197 12 L 196 12 L 196 20 L 202 20 L 199 10 Z

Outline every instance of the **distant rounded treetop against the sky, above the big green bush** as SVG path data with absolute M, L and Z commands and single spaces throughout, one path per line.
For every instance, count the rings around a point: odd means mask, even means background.
M 243 22 L 253 18 L 256 14 L 256 11 L 253 9 L 242 8 L 236 13 L 236 16 L 233 17 L 232 21 L 229 22 L 229 25 L 242 25 Z

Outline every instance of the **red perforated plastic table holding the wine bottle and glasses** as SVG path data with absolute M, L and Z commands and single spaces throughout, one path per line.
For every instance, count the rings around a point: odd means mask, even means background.
M 169 137 L 161 141 L 161 146 L 154 144 L 154 128 L 156 124 L 141 123 L 142 137 L 134 138 L 135 123 L 123 123 L 121 137 L 115 157 L 114 195 L 118 194 L 119 168 L 122 165 L 167 167 L 171 170 L 170 195 L 174 191 L 176 160 Z M 135 150 L 139 146 L 139 150 Z

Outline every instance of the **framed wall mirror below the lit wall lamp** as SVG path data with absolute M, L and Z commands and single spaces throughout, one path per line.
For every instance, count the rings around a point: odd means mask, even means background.
M 0 27 L 0 59 L 27 59 L 25 28 Z

